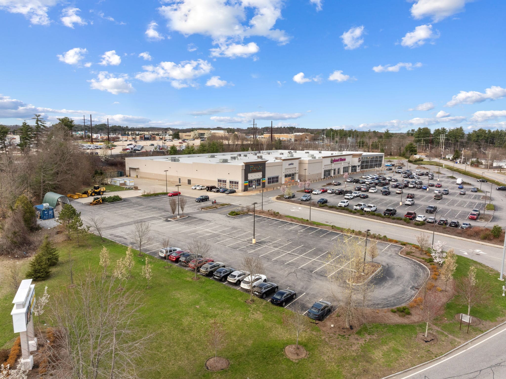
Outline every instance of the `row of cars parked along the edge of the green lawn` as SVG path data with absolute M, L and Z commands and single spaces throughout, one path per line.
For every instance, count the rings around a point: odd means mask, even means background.
M 227 281 L 246 290 L 252 289 L 253 294 L 258 298 L 265 299 L 273 294 L 269 300 L 273 305 L 284 307 L 297 298 L 296 291 L 288 288 L 279 289 L 279 285 L 267 281 L 267 276 L 264 274 L 251 274 L 245 270 L 226 267 L 223 262 L 215 262 L 212 258 L 203 257 L 200 254 L 179 247 L 163 247 L 158 251 L 158 256 L 183 267 L 198 270 L 200 274 L 213 277 L 221 282 Z M 314 320 L 322 320 L 331 312 L 332 305 L 329 302 L 320 300 L 313 304 L 307 314 L 308 317 Z

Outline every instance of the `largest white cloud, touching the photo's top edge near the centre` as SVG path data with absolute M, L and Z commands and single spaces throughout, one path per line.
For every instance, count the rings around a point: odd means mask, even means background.
M 264 36 L 286 44 L 284 30 L 275 29 L 283 0 L 170 0 L 160 7 L 168 27 L 184 35 L 202 34 L 215 41 Z

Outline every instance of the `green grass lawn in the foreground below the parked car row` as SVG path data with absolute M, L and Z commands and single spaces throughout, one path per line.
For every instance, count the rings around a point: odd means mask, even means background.
M 37 295 L 40 296 L 45 285 L 50 294 L 68 285 L 65 253 L 69 248 L 75 259 L 74 272 L 78 274 L 88 265 L 98 267 L 102 244 L 110 249 L 112 262 L 124 256 L 125 246 L 102 242 L 97 236 L 90 236 L 81 247 L 71 242 L 60 243 L 61 262 L 53 268 L 48 280 L 35 283 Z M 459 331 L 458 322 L 453 321 L 455 313 L 467 308 L 451 301 L 436 323 L 449 335 L 430 327 L 438 335 L 436 345 L 423 346 L 415 341 L 416 333 L 425 330 L 424 323 L 368 324 L 352 335 L 326 333 L 313 325 L 300 341 L 309 352 L 308 358 L 292 362 L 283 353 L 284 346 L 294 343 L 293 335 L 282 324 L 282 315 L 288 310 L 260 299 L 247 305 L 244 301 L 249 298 L 248 294 L 203 277 L 194 281 L 191 272 L 175 266 L 164 268 L 165 263 L 159 260 L 152 260 L 153 279 L 151 288 L 146 289 L 140 276 L 141 259 L 135 260 L 134 278 L 128 285 L 142 293 L 145 303 L 142 308 L 145 317 L 140 326 L 146 331 L 158 332 L 145 357 L 146 362 L 156 367 L 156 371 L 144 375 L 149 378 L 376 378 L 432 359 L 459 345 L 461 340 L 471 339 L 492 323 L 498 323 L 506 307 L 506 300 L 500 296 L 498 274 L 468 258 L 458 257 L 457 277 L 465 275 L 469 266 L 475 264 L 478 279 L 490 281 L 497 294 L 489 306 L 472 310 L 473 315 L 486 322 L 471 327 L 469 334 Z M 27 261 L 23 265 L 26 267 Z M 0 347 L 10 347 L 15 338 L 10 316 L 13 293 L 3 287 L 0 290 Z M 206 331 L 213 319 L 224 324 L 229 338 L 227 346 L 218 354 L 231 362 L 227 370 L 217 373 L 204 368 L 205 360 L 213 356 L 206 346 Z

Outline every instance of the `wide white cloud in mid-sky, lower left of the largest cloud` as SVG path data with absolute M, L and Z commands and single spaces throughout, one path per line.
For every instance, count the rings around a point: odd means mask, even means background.
M 208 74 L 213 66 L 202 59 L 196 61 L 183 61 L 179 64 L 174 62 L 160 62 L 156 66 L 143 66 L 143 72 L 139 72 L 136 79 L 152 82 L 155 80 L 168 79 L 174 88 L 181 89 L 195 86 L 192 80 L 198 76 Z

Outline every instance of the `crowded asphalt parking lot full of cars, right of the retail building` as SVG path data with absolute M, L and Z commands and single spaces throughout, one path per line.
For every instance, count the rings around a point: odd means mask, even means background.
M 414 170 L 413 170 L 414 171 Z M 393 174 L 392 172 L 387 171 L 384 174 L 386 177 L 392 176 L 392 178 L 398 179 L 398 182 L 402 182 L 403 179 L 408 178 L 402 178 L 402 174 Z M 459 178 L 462 176 L 458 176 Z M 354 178 L 360 178 L 358 175 L 355 175 Z M 464 185 L 464 189 L 466 191 L 466 195 L 459 195 L 460 189 L 457 188 L 456 179 L 449 179 L 446 177 L 446 175 L 440 175 L 438 180 L 438 175 L 436 174 L 434 176 L 434 180 L 428 181 L 428 176 L 421 176 L 420 180 L 423 182 L 423 185 L 428 185 L 428 183 L 441 183 L 441 188 L 436 187 L 429 187 L 429 191 L 424 189 L 416 189 L 416 188 L 404 188 L 403 194 L 402 194 L 402 205 L 399 205 L 399 202 L 401 201 L 401 195 L 396 194 L 395 190 L 396 188 L 390 188 L 390 191 L 392 192 L 390 195 L 382 195 L 381 194 L 381 188 L 382 186 L 377 186 L 377 192 L 370 193 L 370 192 L 361 192 L 361 193 L 367 193 L 369 197 L 367 199 L 361 199 L 361 198 L 355 198 L 350 201 L 349 207 L 353 207 L 358 202 L 363 202 L 367 204 L 374 204 L 377 206 L 377 212 L 383 213 L 383 211 L 386 208 L 393 207 L 397 209 L 397 215 L 402 217 L 408 210 L 412 210 L 416 212 L 416 214 L 422 214 L 427 217 L 434 216 L 431 214 L 425 213 L 425 208 L 428 205 L 436 205 L 438 207 L 438 212 L 436 214 L 436 218 L 439 220 L 440 218 L 447 218 L 448 220 L 457 220 L 460 223 L 465 222 L 467 220 L 467 217 L 471 213 L 471 211 L 474 208 L 479 208 L 481 212 L 483 213 L 485 202 L 482 200 L 482 196 L 484 193 L 480 192 L 471 192 L 472 187 L 480 188 L 480 183 L 476 182 L 476 179 L 465 177 L 463 178 L 464 181 L 467 181 L 471 183 L 472 185 Z M 412 180 L 412 179 L 408 179 Z M 359 185 L 357 183 L 347 183 L 346 189 L 352 189 L 353 187 Z M 391 186 L 390 186 L 391 187 Z M 317 188 L 313 187 L 312 188 Z M 326 186 L 326 188 L 334 188 L 334 189 L 345 189 L 345 183 L 341 186 Z M 495 188 L 495 187 L 494 187 Z M 434 190 L 439 189 L 448 189 L 449 194 L 443 195 L 443 198 L 441 200 L 434 199 Z M 482 183 L 482 190 L 490 190 L 490 184 L 488 183 Z M 495 192 L 495 190 L 494 190 Z M 497 195 L 496 193 L 492 192 L 492 202 L 494 201 L 494 195 Z M 414 194 L 414 204 L 412 205 L 405 205 L 404 202 L 406 200 L 406 195 L 408 193 Z M 302 193 L 296 193 L 296 198 L 300 199 L 302 196 Z M 344 195 L 337 195 L 337 194 L 327 194 L 322 193 L 320 195 L 311 195 L 312 200 L 316 201 L 320 198 L 326 198 L 328 200 L 328 205 L 338 205 L 338 203 L 341 200 L 344 200 Z M 303 202 L 304 203 L 304 202 Z M 487 201 L 488 203 L 488 201 Z M 506 220 L 506 216 L 502 215 L 502 212 L 495 212 L 494 214 L 494 223 L 496 222 L 502 222 L 503 220 Z M 469 221 L 469 220 L 468 220 Z M 480 222 L 477 221 L 471 221 L 472 224 L 478 225 Z

